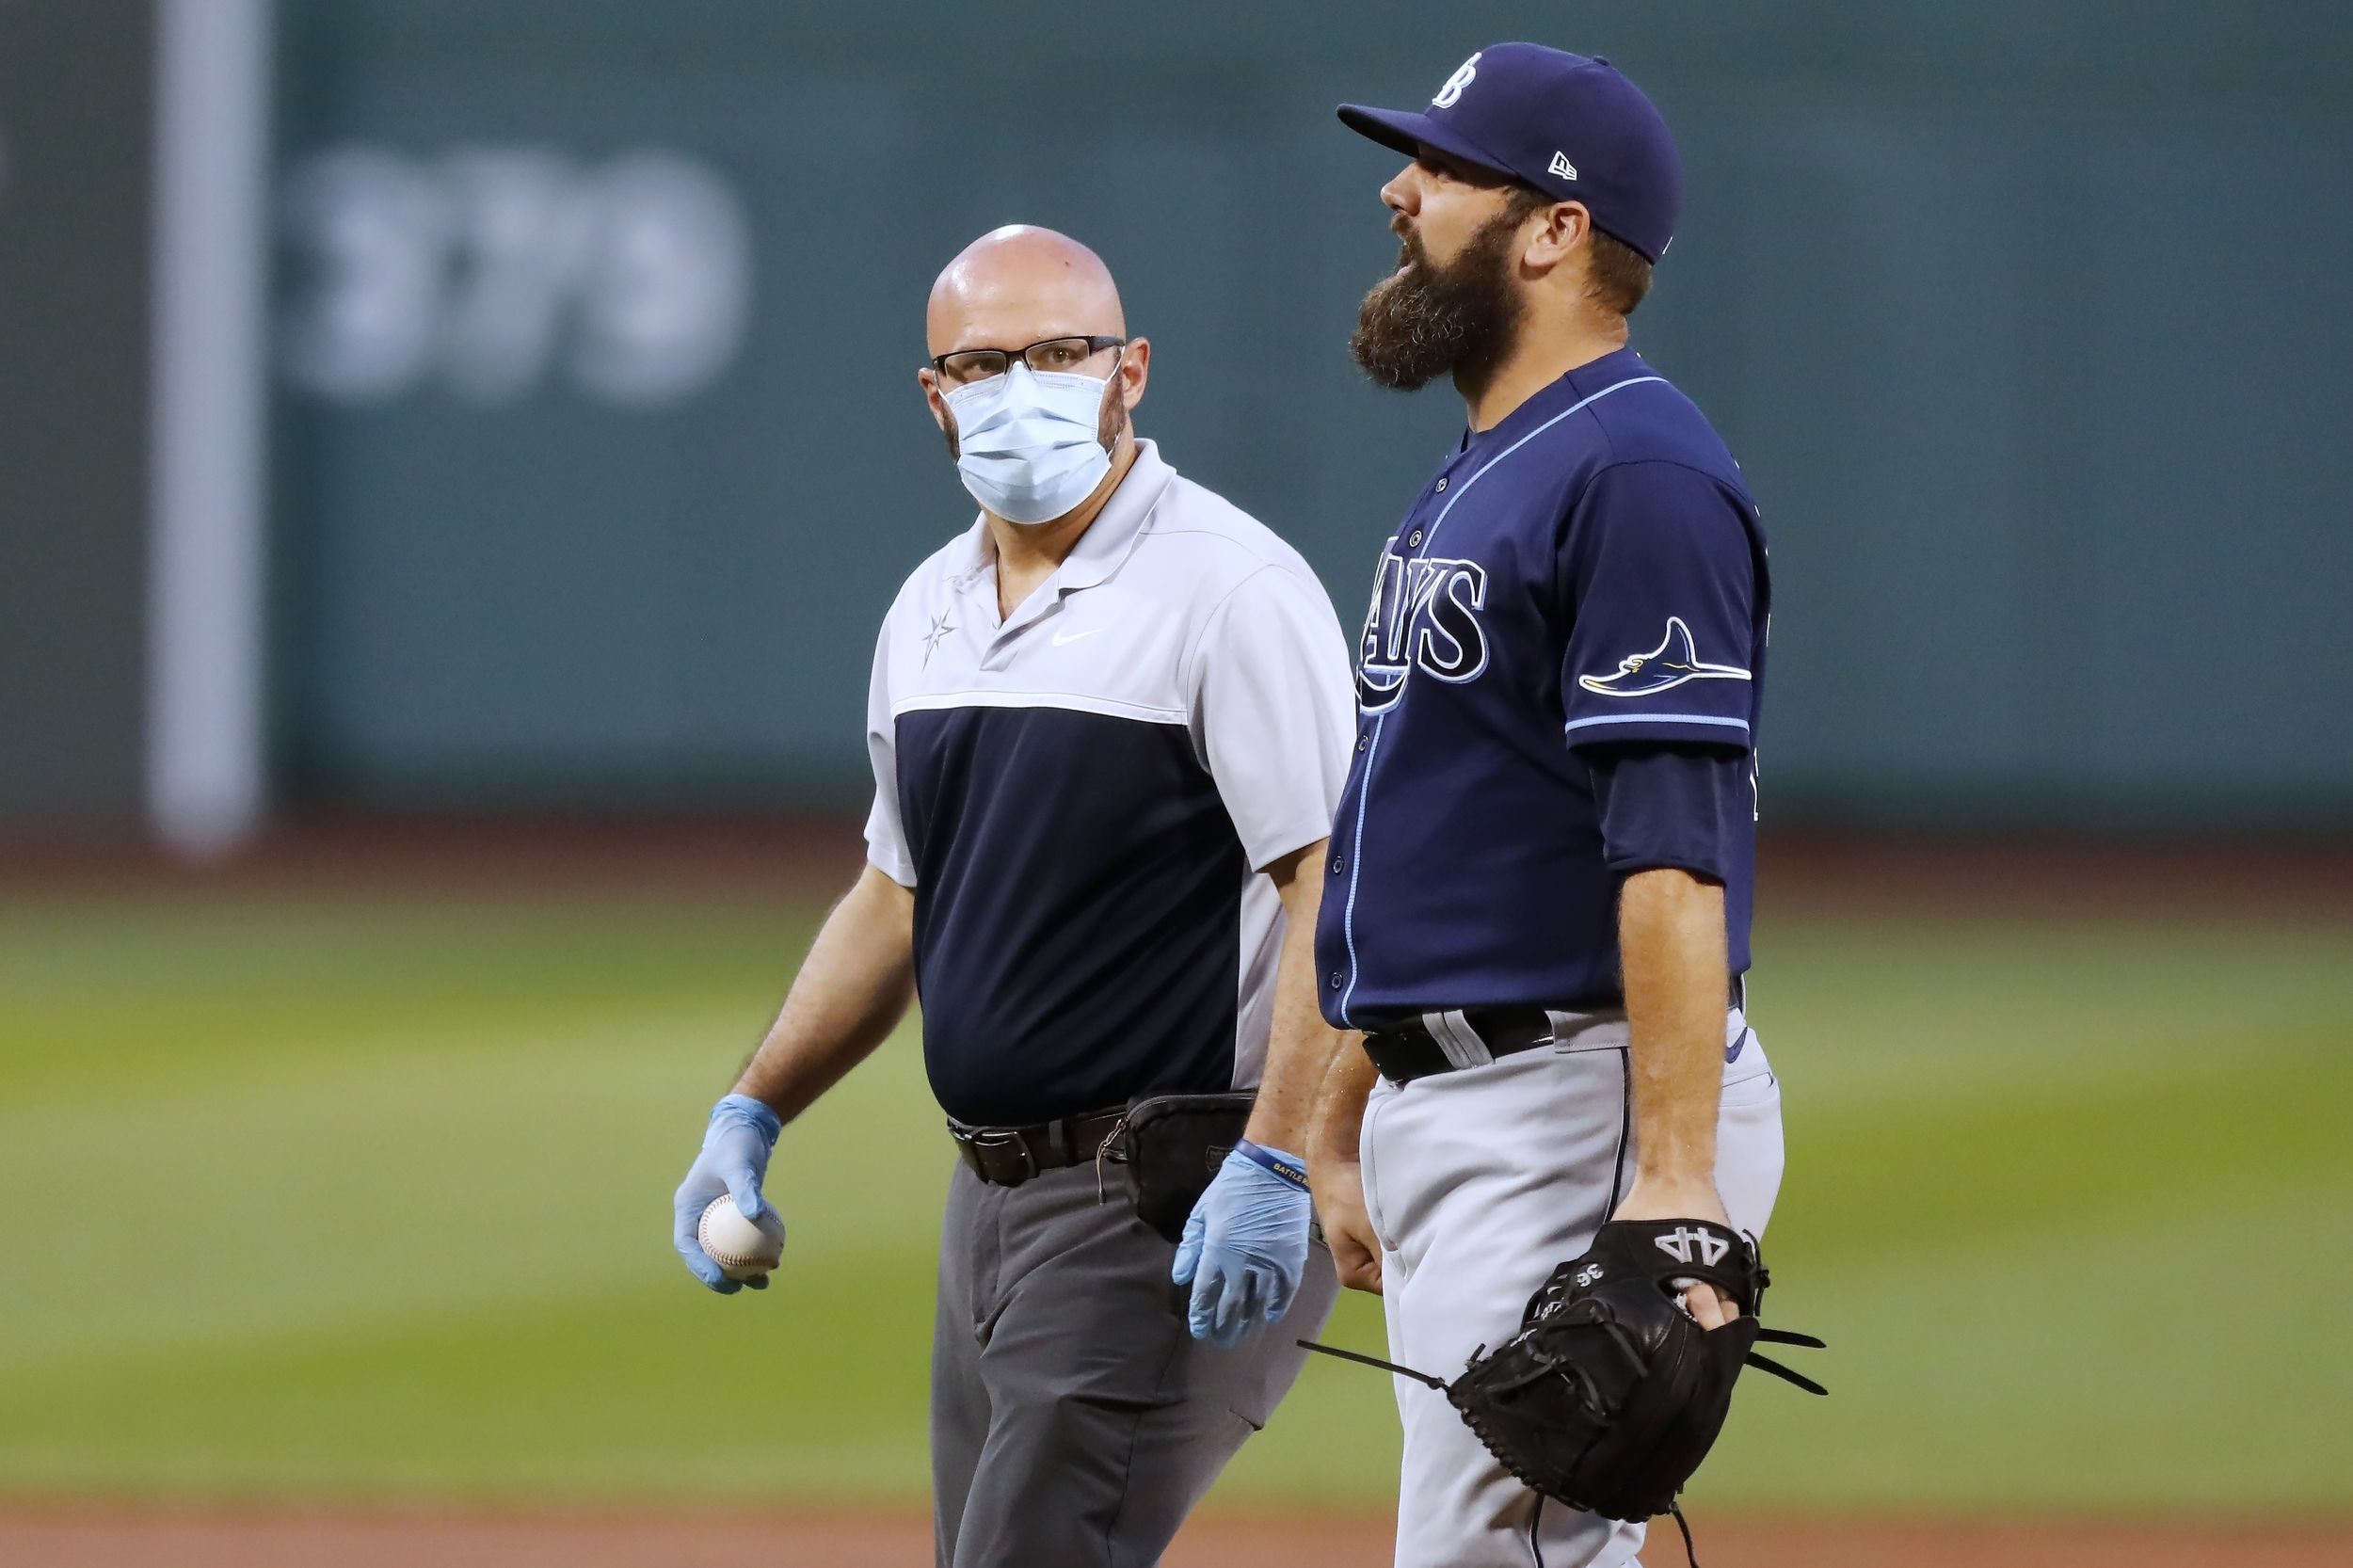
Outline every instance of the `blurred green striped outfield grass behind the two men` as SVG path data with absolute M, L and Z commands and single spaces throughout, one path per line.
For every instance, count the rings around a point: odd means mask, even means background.
M 0 899 L 0 1490 L 920 1497 L 911 1031 L 786 1137 L 774 1290 L 668 1250 L 816 913 Z M 2353 1504 L 2353 930 L 1781 916 L 1753 1012 L 1833 1398 L 1758 1380 L 1699 1497 Z M 1386 1380 L 1318 1363 L 1221 1497 L 1393 1464 Z

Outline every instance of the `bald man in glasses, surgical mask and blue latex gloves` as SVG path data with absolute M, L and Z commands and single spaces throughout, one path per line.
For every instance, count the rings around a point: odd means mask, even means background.
M 675 1241 L 739 1290 L 696 1217 L 765 1205 L 784 1123 L 920 991 L 960 1156 L 939 1566 L 1155 1563 L 1337 1290 L 1292 1151 L 1339 1048 L 1311 939 L 1348 652 L 1299 553 L 1136 440 L 1153 353 L 1094 252 L 988 233 L 925 327 L 981 511 L 882 622 L 868 864 L 713 1109 Z M 1113 1165 L 1127 1142 L 1146 1158 Z

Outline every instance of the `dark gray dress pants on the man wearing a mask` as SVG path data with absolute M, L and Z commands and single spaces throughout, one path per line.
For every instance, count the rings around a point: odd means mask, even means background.
M 932 1333 L 939 1568 L 1151 1568 L 1306 1361 L 1339 1281 L 1308 1250 L 1289 1314 L 1235 1349 L 1186 1333 L 1176 1248 L 1108 1172 L 948 1184 Z

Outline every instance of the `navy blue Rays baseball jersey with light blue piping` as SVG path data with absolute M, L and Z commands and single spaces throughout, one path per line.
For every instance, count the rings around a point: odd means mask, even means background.
M 1322 1010 L 1617 1003 L 1612 763 L 1708 751 L 1748 798 L 1708 871 L 1748 968 L 1769 586 L 1739 464 L 1631 348 L 1461 450 L 1388 539 L 1315 932 Z

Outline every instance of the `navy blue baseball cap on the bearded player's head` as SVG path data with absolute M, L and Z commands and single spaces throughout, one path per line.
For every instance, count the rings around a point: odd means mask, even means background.
M 1553 200 L 1584 202 L 1595 228 L 1652 261 L 1675 238 L 1675 139 L 1642 89 L 1598 54 L 1487 45 L 1426 111 L 1341 104 L 1339 118 L 1407 158 L 1428 144 Z

